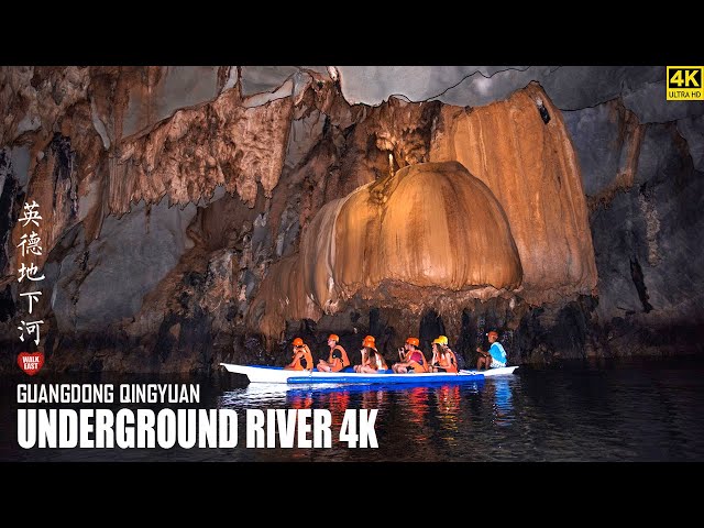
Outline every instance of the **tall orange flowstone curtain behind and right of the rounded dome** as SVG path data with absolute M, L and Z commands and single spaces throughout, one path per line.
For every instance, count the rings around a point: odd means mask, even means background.
M 544 123 L 542 105 L 550 116 Z M 504 207 L 524 268 L 521 296 L 540 304 L 596 287 L 596 264 L 574 148 L 537 85 L 471 110 L 443 107 L 430 160 L 457 160 Z

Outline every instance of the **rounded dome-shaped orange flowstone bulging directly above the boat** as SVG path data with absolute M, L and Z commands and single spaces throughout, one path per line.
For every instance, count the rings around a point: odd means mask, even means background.
M 487 298 L 520 285 L 506 216 L 457 162 L 411 165 L 327 204 L 298 255 L 272 267 L 250 321 L 270 336 L 359 295 L 420 312 L 432 297 Z

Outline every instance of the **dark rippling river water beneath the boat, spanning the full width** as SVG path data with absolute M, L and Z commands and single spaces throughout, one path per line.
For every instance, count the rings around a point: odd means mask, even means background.
M 701 360 L 521 367 L 513 376 L 479 384 L 334 391 L 284 391 L 228 374 L 211 378 L 36 377 L 2 380 L 1 461 L 704 461 Z M 18 383 L 198 383 L 198 407 L 238 411 L 239 444 L 188 450 L 25 450 L 18 444 Z M 113 406 L 119 407 L 125 406 Z M 164 407 L 184 406 L 155 408 Z M 252 408 L 329 409 L 332 447 L 246 448 L 244 415 Z M 377 449 L 351 449 L 337 439 L 344 410 L 361 408 L 378 409 Z

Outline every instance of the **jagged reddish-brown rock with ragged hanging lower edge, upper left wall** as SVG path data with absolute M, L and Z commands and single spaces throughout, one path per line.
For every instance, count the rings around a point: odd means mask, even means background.
M 271 196 L 284 164 L 293 103 L 278 99 L 242 108 L 234 90 L 197 109 L 179 110 L 152 132 L 122 144 L 110 165 L 110 210 L 131 201 L 198 201 L 224 185 L 250 207 L 257 184 Z M 218 131 L 218 133 L 215 133 Z

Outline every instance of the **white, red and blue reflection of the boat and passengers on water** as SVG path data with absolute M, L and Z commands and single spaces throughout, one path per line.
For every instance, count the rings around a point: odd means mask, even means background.
M 299 385 L 289 388 L 250 384 L 223 393 L 219 405 L 234 409 L 328 409 L 333 430 L 340 430 L 348 409 L 378 409 L 376 429 L 389 452 L 400 452 L 400 457 L 415 460 L 437 460 L 438 453 L 450 458 L 449 453 L 457 448 L 473 444 L 473 429 L 482 424 L 510 426 L 514 420 L 512 391 L 508 378 L 417 386 Z M 472 457 L 471 451 L 468 457 Z

